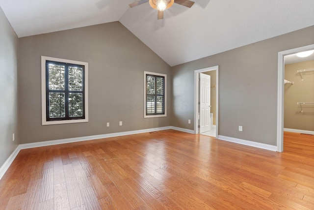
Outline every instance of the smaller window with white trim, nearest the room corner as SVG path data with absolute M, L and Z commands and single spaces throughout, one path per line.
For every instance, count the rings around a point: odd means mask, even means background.
M 166 117 L 167 75 L 144 71 L 144 118 Z

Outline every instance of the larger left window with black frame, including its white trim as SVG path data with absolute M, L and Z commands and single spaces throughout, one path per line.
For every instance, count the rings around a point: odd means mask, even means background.
M 42 56 L 42 124 L 88 121 L 88 63 Z

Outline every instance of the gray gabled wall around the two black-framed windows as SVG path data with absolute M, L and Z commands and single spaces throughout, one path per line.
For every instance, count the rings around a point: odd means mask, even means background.
M 171 125 L 143 118 L 144 71 L 167 74 L 171 104 L 170 66 L 119 22 L 23 37 L 19 46 L 21 144 Z M 41 125 L 41 56 L 88 62 L 89 122 Z

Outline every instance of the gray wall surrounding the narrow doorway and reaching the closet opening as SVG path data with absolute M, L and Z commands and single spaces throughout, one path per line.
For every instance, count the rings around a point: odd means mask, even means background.
M 314 26 L 173 66 L 172 125 L 194 129 L 194 70 L 219 65 L 218 134 L 276 145 L 278 52 L 310 44 Z

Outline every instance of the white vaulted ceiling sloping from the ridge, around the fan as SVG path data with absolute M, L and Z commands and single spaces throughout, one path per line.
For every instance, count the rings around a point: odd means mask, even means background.
M 195 0 L 157 20 L 136 0 L 0 0 L 19 37 L 120 21 L 174 66 L 314 25 L 314 0 Z M 314 38 L 313 38 L 314 39 Z

